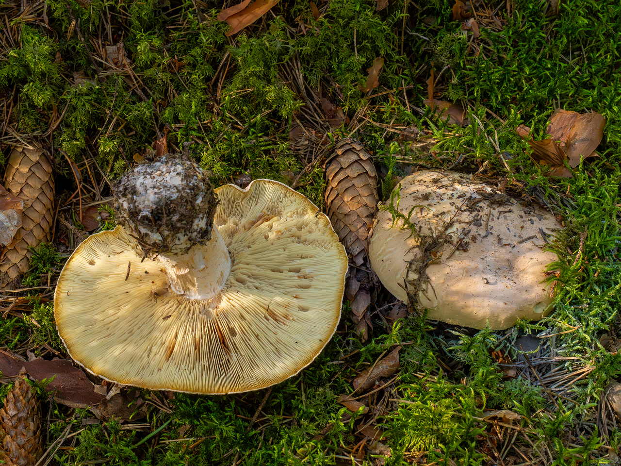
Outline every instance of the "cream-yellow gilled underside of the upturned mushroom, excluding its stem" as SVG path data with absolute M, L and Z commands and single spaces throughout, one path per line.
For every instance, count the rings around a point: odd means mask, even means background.
M 214 227 L 232 263 L 217 299 L 168 291 L 161 263 L 141 262 L 122 227 L 88 237 L 71 255 L 55 316 L 84 368 L 152 390 L 224 394 L 279 383 L 319 355 L 340 319 L 347 272 L 329 219 L 276 181 L 216 193 Z

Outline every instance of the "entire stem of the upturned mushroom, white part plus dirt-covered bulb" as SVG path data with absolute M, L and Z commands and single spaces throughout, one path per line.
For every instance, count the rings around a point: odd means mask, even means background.
M 170 291 L 214 299 L 229 276 L 230 257 L 212 229 L 218 201 L 206 173 L 166 155 L 137 165 L 113 189 L 119 223 L 165 268 Z

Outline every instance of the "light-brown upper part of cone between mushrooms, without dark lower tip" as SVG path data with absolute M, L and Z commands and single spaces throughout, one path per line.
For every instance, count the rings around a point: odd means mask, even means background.
M 325 175 L 328 217 L 353 263 L 360 266 L 378 208 L 378 174 L 363 145 L 347 138 L 337 143 L 326 163 Z

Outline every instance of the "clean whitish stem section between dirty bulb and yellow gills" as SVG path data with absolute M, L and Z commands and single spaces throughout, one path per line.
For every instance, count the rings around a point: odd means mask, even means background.
M 206 245 L 193 246 L 187 254 L 160 254 L 155 261 L 165 268 L 170 291 L 187 299 L 217 298 L 231 271 L 229 250 L 217 228 Z

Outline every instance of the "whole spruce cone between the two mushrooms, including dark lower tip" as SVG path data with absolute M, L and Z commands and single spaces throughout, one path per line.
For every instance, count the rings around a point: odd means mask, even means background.
M 345 296 L 351 306 L 350 317 L 356 325 L 356 332 L 362 333 L 363 340 L 366 340 L 371 327 L 367 311 L 376 278 L 373 272 L 366 272 L 371 270 L 366 253 L 378 205 L 378 175 L 369 153 L 353 139 L 342 139 L 337 143 L 326 164 L 325 174 L 328 181 L 325 201 L 330 222 L 338 239 L 345 245 L 350 262 L 358 266 L 350 267 L 345 284 Z M 363 263 L 365 267 L 360 268 Z

